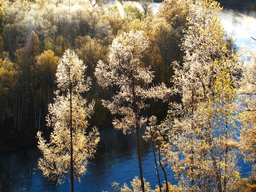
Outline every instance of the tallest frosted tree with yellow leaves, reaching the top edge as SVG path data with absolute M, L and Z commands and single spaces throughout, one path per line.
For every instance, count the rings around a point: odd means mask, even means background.
M 172 103 L 166 126 L 170 143 L 182 158 L 171 162 L 184 189 L 231 191 L 239 175 L 238 127 L 234 104 L 239 60 L 227 49 L 214 1 L 190 6 L 182 42 L 183 66 L 176 64 L 174 85 L 182 106 Z M 172 158 L 172 155 L 170 155 Z

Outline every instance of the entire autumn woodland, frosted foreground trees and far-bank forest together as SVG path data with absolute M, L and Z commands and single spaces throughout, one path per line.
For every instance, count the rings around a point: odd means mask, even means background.
M 232 49 L 217 2 L 165 0 L 156 15 L 151 3 L 2 0 L 1 148 L 39 139 L 39 169 L 72 183 L 95 153 L 94 126 L 146 125 L 165 179 L 143 180 L 137 134 L 140 178 L 114 191 L 255 191 L 255 173 L 237 167 L 256 162 L 255 53 Z

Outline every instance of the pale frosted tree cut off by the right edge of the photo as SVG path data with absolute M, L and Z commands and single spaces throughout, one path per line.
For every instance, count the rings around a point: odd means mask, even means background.
M 255 124 L 255 65 L 256 54 L 250 53 L 247 58 L 247 63 L 243 66 L 242 78 L 238 81 L 238 94 L 241 102 L 238 103 L 240 112 L 245 115 L 241 118 L 243 129 L 241 134 L 241 148 L 245 152 L 245 161 L 256 163 L 256 124 Z

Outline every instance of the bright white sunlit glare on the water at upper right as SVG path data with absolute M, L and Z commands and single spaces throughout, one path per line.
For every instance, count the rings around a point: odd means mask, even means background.
M 256 12 L 223 9 L 220 14 L 221 24 L 227 34 L 233 34 L 236 47 L 256 50 Z

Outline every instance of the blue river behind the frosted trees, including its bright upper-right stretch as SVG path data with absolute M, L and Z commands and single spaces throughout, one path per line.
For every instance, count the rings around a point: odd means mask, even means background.
M 237 47 L 256 47 L 255 12 L 247 14 L 241 11 L 223 10 L 221 22 L 228 33 L 233 32 Z M 149 143 L 141 141 L 143 176 L 153 189 L 157 185 L 153 152 Z M 37 148 L 18 150 L 0 154 L 0 191 L 70 191 L 70 183 L 57 185 L 43 177 L 37 169 L 37 160 L 41 157 Z M 242 177 L 250 174 L 250 164 L 241 166 Z M 108 127 L 101 131 L 101 141 L 95 158 L 90 160 L 87 173 L 81 183 L 75 183 L 75 191 L 97 192 L 112 191 L 111 183 L 117 181 L 130 184 L 135 175 L 139 175 L 135 135 L 123 135 L 121 131 Z M 174 173 L 169 169 L 169 181 L 176 184 Z M 163 181 L 161 174 L 161 181 Z

